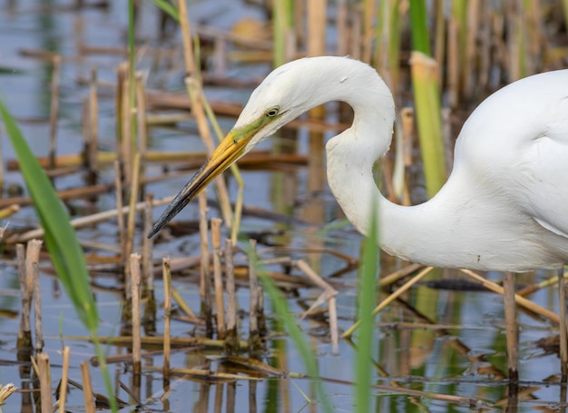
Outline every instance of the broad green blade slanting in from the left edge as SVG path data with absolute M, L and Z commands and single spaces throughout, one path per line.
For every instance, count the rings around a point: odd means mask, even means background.
M 87 265 L 75 231 L 69 223 L 69 214 L 57 198 L 52 182 L 25 142 L 15 119 L 1 101 L 0 115 L 20 162 L 20 169 L 34 202 L 34 209 L 44 227 L 45 246 L 50 253 L 57 276 L 73 301 L 85 327 L 91 332 L 96 332 L 99 318 L 89 284 Z

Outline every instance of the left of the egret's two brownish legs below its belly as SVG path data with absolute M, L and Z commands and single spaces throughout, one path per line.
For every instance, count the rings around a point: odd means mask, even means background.
M 516 306 L 514 303 L 514 272 L 506 271 L 504 274 L 504 322 L 507 337 L 507 365 L 509 367 L 509 380 L 519 379 L 518 324 L 516 321 Z

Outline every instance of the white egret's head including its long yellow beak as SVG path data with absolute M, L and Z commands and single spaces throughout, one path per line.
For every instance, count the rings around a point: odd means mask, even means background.
M 339 60 L 347 64 L 347 72 L 337 70 Z M 351 68 L 351 65 L 353 67 Z M 223 139 L 211 158 L 191 178 L 175 199 L 168 205 L 154 224 L 148 237 L 170 221 L 185 205 L 197 196 L 214 178 L 249 152 L 255 145 L 268 138 L 283 125 L 297 118 L 301 113 L 331 99 L 329 88 L 321 87 L 321 79 L 328 79 L 336 86 L 333 92 L 346 89 L 346 73 L 360 70 L 363 65 L 342 57 L 314 57 L 299 59 L 283 64 L 271 72 L 250 95 L 249 102 L 240 113 L 230 133 Z M 369 73 L 376 73 L 370 68 Z M 343 79 L 343 80 L 342 80 Z

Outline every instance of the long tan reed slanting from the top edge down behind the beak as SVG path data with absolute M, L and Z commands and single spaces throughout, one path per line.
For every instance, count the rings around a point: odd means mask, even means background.
M 195 123 L 199 130 L 201 140 L 207 147 L 207 151 L 211 154 L 214 150 L 213 139 L 211 137 L 211 131 L 207 123 L 207 117 L 203 108 L 202 101 L 202 83 L 199 70 L 195 64 L 195 58 L 193 54 L 193 47 L 191 44 L 191 30 L 190 22 L 187 14 L 187 5 L 184 0 L 178 0 L 178 10 L 180 13 L 180 27 L 181 27 L 181 39 L 183 43 L 183 58 L 185 62 L 186 77 L 185 84 L 191 99 L 191 109 L 193 116 L 195 118 Z M 229 192 L 227 191 L 227 185 L 222 177 L 215 180 L 215 186 L 217 187 L 217 192 L 220 200 L 220 211 L 225 221 L 227 227 L 232 226 L 232 216 L 230 211 L 230 201 Z M 204 195 L 199 195 L 203 197 Z

